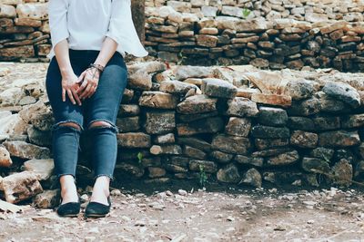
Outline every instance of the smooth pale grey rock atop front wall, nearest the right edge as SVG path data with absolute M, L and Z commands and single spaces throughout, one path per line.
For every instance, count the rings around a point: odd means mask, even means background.
M 330 97 L 348 103 L 354 109 L 360 106 L 359 92 L 348 83 L 327 82 L 322 91 Z

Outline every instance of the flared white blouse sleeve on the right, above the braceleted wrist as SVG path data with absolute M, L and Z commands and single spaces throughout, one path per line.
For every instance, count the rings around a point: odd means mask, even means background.
M 110 23 L 106 36 L 112 38 L 126 53 L 137 57 L 147 55 L 136 34 L 130 9 L 130 0 L 113 0 Z

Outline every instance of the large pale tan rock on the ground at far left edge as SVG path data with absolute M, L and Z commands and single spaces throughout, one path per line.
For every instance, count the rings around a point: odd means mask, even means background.
M 5 200 L 10 203 L 18 203 L 32 198 L 43 191 L 37 175 L 30 171 L 23 171 L 5 177 L 2 187 Z

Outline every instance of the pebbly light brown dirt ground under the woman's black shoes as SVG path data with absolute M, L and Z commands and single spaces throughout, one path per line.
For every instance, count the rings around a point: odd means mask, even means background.
M 30 206 L 0 213 L 0 241 L 364 241 L 358 189 L 194 186 L 116 189 L 106 218 L 59 218 Z

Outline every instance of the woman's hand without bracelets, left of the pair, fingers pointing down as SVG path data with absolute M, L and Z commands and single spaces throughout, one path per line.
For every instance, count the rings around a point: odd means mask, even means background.
M 62 101 L 66 102 L 66 94 L 69 100 L 78 105 L 82 105 L 77 90 L 79 88 L 79 81 L 78 77 L 75 73 L 70 72 L 62 75 Z

